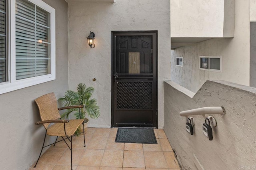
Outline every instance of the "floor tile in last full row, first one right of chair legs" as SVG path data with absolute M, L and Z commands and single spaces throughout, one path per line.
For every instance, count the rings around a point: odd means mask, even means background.
M 104 150 L 90 150 L 84 152 L 84 156 L 79 162 L 79 166 L 100 166 Z

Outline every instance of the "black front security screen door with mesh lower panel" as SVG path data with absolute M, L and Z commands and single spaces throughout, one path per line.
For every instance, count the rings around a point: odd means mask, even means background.
M 157 127 L 157 32 L 112 32 L 112 127 Z

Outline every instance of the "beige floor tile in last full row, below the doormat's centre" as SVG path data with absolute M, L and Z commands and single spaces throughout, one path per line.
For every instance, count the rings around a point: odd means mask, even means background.
M 123 167 L 144 168 L 144 155 L 143 151 L 124 151 L 124 164 Z

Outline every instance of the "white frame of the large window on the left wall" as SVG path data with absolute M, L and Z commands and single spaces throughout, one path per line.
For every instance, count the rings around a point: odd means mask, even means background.
M 6 0 L 7 1 L 7 0 Z M 50 13 L 50 74 L 16 80 L 16 1 L 8 0 L 8 81 L 0 83 L 0 94 L 56 79 L 55 9 L 42 0 L 28 0 Z

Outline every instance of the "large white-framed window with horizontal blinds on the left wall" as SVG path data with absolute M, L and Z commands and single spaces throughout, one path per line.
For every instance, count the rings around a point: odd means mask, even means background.
M 46 2 L 0 0 L 0 94 L 56 79 L 55 33 Z

